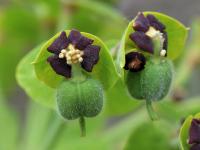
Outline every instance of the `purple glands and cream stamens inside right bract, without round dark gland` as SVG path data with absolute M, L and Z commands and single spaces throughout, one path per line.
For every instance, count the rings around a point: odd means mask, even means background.
M 145 17 L 139 12 L 133 23 L 133 29 L 135 32 L 129 37 L 138 48 L 151 54 L 158 51 L 160 56 L 167 56 L 166 27 L 154 15 L 148 14 Z

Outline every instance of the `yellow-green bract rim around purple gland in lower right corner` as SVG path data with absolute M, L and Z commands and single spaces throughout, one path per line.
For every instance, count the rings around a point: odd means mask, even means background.
M 190 115 L 189 117 L 187 117 L 187 119 L 184 121 L 181 127 L 179 141 L 182 150 L 190 149 L 190 145 L 187 143 L 187 141 L 189 138 L 189 129 L 193 118 L 200 118 L 200 113 L 196 114 L 195 116 Z

